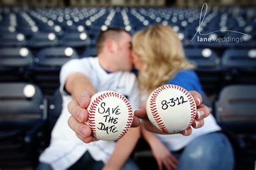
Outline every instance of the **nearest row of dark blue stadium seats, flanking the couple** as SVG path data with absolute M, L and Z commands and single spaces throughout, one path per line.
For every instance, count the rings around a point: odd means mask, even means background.
M 51 130 L 62 110 L 62 96 L 57 90 L 46 100 L 41 89 L 30 83 L 0 83 L 0 89 L 0 166 L 3 169 L 35 167 L 39 153 L 49 145 Z M 230 136 L 237 153 L 237 166 L 244 169 L 253 166 L 256 86 L 227 86 L 215 102 L 206 95 L 203 98 Z M 144 163 L 153 157 L 144 143 L 140 139 L 134 158 L 145 169 L 150 163 Z

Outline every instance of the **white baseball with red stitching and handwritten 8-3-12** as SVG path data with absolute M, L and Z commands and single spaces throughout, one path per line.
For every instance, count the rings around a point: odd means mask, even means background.
M 150 122 L 164 133 L 190 127 L 196 118 L 196 102 L 182 87 L 168 84 L 154 90 L 146 103 Z

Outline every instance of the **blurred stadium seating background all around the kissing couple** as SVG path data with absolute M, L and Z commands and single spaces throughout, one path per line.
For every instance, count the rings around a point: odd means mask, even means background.
M 213 33 L 192 40 L 204 3 L 208 8 L 200 32 Z M 58 87 L 65 62 L 96 56 L 97 36 L 108 27 L 133 34 L 154 24 L 172 26 L 187 58 L 197 66 L 204 102 L 232 142 L 235 168 L 254 168 L 256 1 L 2 0 L 0 169 L 37 166 L 62 110 Z M 132 157 L 142 169 L 157 169 L 143 139 Z

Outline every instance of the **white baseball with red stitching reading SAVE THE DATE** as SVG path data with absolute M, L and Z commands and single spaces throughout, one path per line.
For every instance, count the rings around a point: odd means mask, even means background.
M 130 102 L 116 91 L 101 91 L 91 97 L 87 107 L 92 136 L 101 140 L 117 140 L 130 129 L 133 111 Z

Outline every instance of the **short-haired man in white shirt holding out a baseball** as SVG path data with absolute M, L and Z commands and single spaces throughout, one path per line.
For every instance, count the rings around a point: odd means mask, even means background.
M 62 67 L 60 92 L 63 110 L 53 128 L 51 144 L 39 158 L 38 169 L 138 169 L 129 157 L 139 138 L 139 128 L 131 128 L 117 142 L 98 140 L 85 144 L 67 124 L 69 111 L 74 112 L 80 122 L 87 119 L 83 107 L 83 103 L 89 101 L 87 93 L 91 96 L 97 91 L 117 91 L 128 98 L 133 109 L 139 107 L 136 76 L 129 72 L 132 68 L 130 34 L 122 29 L 102 32 L 97 41 L 97 53 L 97 58 L 70 60 Z M 82 108 L 78 109 L 78 101 Z M 69 111 L 68 103 L 71 105 Z M 71 124 L 74 121 L 69 119 Z M 79 131 L 79 138 L 91 134 L 89 126 L 73 128 Z

